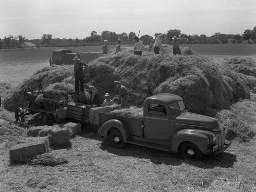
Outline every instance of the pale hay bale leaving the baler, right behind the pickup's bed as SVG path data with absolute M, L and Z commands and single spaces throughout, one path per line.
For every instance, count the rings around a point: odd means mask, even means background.
M 115 109 L 119 108 L 118 105 L 114 104 L 107 107 L 98 107 L 98 108 L 90 108 L 89 109 L 89 119 L 92 123 L 99 123 L 99 112 L 101 113 L 110 113 Z

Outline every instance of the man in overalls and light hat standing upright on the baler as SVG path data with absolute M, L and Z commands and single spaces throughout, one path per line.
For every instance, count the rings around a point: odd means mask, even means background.
M 80 91 L 84 92 L 84 73 L 83 73 L 83 66 L 85 65 L 84 62 L 80 62 L 79 57 L 75 56 L 74 59 L 74 91 L 75 95 L 79 95 L 79 83 L 80 83 Z

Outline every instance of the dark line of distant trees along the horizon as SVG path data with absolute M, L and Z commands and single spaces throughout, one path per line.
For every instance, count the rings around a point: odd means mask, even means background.
M 136 34 L 130 32 L 129 34 L 123 32 L 116 34 L 112 31 L 102 31 L 98 34 L 96 31 L 92 31 L 90 36 L 84 39 L 79 38 L 52 38 L 51 34 L 43 34 L 40 39 L 25 39 L 24 36 L 5 36 L 0 39 L 0 48 L 21 48 L 24 42 L 32 42 L 38 48 L 39 47 L 78 47 L 78 46 L 95 46 L 103 45 L 103 41 L 107 39 L 110 45 L 117 44 L 118 41 L 122 41 L 125 44 L 133 44 L 133 39 Z M 173 36 L 185 37 L 188 39 L 188 44 L 218 44 L 218 43 L 242 43 L 247 40 L 248 43 L 256 43 L 256 26 L 253 29 L 246 29 L 244 34 L 221 34 L 215 33 L 212 36 L 206 36 L 204 34 L 198 35 L 186 35 L 181 33 L 180 29 L 170 29 L 166 33 L 166 38 L 162 39 L 163 43 L 171 44 Z M 149 35 L 140 36 L 140 40 L 144 45 L 154 43 L 154 37 Z M 166 41 L 166 42 L 165 42 Z M 230 41 L 230 42 L 229 42 Z

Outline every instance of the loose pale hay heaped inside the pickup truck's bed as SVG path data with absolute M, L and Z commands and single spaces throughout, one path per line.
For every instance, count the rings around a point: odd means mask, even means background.
M 143 118 L 143 108 L 137 108 L 135 106 L 132 106 L 131 108 L 115 109 L 115 110 L 111 111 L 110 114 L 142 119 Z

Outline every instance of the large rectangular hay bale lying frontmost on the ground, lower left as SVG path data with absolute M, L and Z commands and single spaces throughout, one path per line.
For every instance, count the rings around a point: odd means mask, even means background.
M 10 163 L 21 163 L 27 158 L 49 153 L 48 137 L 28 137 L 10 150 Z

